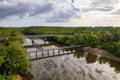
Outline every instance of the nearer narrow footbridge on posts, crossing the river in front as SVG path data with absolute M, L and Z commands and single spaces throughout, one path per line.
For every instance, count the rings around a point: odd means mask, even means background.
M 36 60 L 36 59 L 44 59 L 49 57 L 55 57 L 60 55 L 72 54 L 76 52 L 77 49 L 84 47 L 86 45 L 76 45 L 76 46 L 66 46 L 66 47 L 59 47 L 53 49 L 40 49 L 36 51 L 29 52 L 29 59 Z

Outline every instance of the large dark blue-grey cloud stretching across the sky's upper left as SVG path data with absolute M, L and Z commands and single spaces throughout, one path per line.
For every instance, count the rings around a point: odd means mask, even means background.
M 18 1 L 17 3 L 9 1 L 0 0 L 0 19 L 4 19 L 8 16 L 18 15 L 20 17 L 26 14 L 30 16 L 35 16 L 37 14 L 47 13 L 52 10 L 52 4 L 49 2 L 32 5 L 29 2 Z

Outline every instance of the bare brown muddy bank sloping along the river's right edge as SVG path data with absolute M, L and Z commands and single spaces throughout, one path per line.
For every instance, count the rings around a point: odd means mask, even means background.
M 92 47 L 83 47 L 82 49 L 83 51 L 86 51 L 88 53 L 92 53 L 94 55 L 98 54 L 98 55 L 101 55 L 102 57 L 106 57 L 108 59 L 120 62 L 120 58 L 114 56 L 112 53 L 106 50 L 99 49 L 99 48 L 92 48 Z

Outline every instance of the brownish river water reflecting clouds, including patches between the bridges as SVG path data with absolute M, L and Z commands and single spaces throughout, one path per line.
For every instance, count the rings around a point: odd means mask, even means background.
M 26 42 L 24 44 L 29 44 L 30 40 L 26 39 Z M 44 42 L 36 39 L 36 43 Z M 49 45 L 43 48 L 57 48 L 57 46 Z M 34 51 L 36 48 L 27 50 Z M 29 71 L 33 75 L 31 80 L 120 80 L 119 62 L 83 51 L 33 60 Z

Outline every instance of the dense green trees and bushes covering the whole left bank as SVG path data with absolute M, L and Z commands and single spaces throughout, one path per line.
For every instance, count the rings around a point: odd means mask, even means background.
M 27 74 L 30 61 L 22 47 L 23 35 L 13 29 L 0 28 L 0 80 L 14 80 L 17 74 Z

